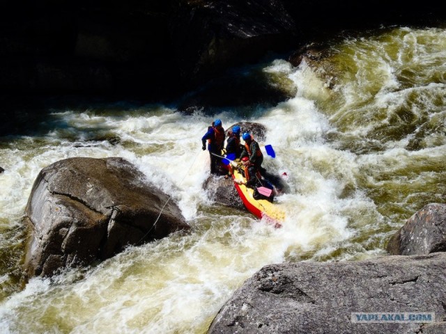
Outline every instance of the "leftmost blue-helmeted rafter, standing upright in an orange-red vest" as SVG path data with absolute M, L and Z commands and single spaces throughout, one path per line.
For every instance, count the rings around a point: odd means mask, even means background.
M 224 129 L 222 121 L 217 119 L 212 123 L 212 126 L 208 127 L 208 132 L 201 137 L 201 143 L 203 144 L 203 151 L 206 150 L 206 141 L 208 142 L 208 151 L 210 157 L 210 173 L 220 174 L 222 171 L 219 166 L 221 163 L 221 158 L 216 157 L 214 154 L 220 156 L 224 148 Z

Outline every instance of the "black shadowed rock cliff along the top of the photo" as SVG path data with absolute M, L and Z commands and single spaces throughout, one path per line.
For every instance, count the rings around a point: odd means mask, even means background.
M 3 1 L 0 88 L 159 99 L 341 29 L 426 24 L 440 3 L 291 0 Z

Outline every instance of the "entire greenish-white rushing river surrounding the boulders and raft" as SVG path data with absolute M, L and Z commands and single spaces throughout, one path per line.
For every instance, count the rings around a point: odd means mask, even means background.
M 272 107 L 186 116 L 128 102 L 54 109 L 33 136 L 0 138 L 0 333 L 206 333 L 231 294 L 263 265 L 385 255 L 418 209 L 445 202 L 446 30 L 392 29 L 333 44 L 292 67 L 262 65 L 295 91 Z M 291 191 L 273 228 L 203 191 L 201 136 L 259 122 Z M 96 267 L 20 280 L 24 207 L 39 171 L 68 157 L 123 157 L 178 202 L 189 234 L 130 247 Z

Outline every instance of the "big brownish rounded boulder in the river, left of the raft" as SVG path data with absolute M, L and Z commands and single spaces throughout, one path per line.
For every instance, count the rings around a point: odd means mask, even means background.
M 43 168 L 26 205 L 26 276 L 50 276 L 187 230 L 169 200 L 125 159 L 71 158 Z

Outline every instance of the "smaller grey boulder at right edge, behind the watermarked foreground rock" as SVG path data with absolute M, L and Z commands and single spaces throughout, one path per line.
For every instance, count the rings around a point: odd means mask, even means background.
M 411 216 L 387 243 L 393 255 L 425 255 L 446 250 L 446 205 L 431 203 Z

